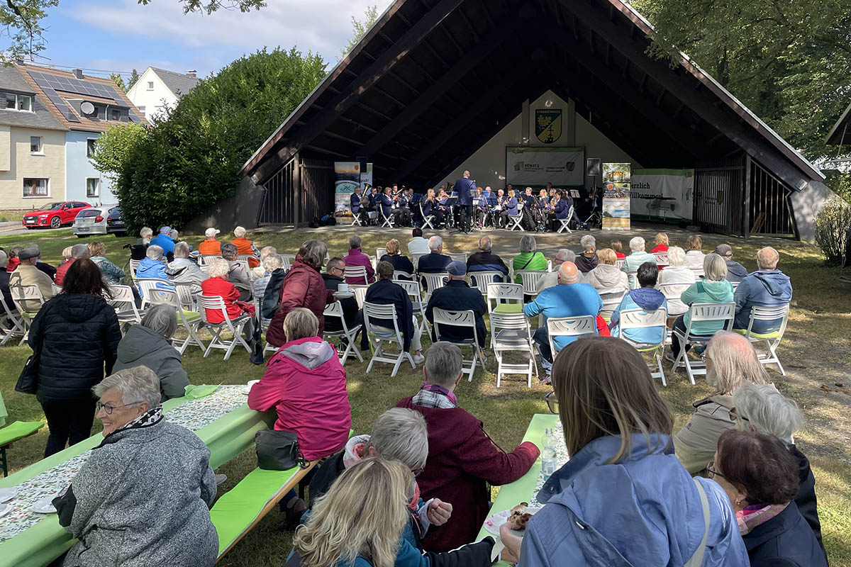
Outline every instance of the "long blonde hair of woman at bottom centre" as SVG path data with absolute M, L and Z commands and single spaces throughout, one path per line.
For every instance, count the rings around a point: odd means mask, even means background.
M 346 468 L 317 499 L 310 518 L 295 530 L 293 547 L 305 567 L 354 564 L 368 556 L 374 567 L 396 563 L 399 538 L 408 523 L 411 472 L 377 456 Z

